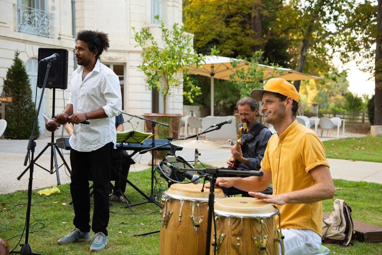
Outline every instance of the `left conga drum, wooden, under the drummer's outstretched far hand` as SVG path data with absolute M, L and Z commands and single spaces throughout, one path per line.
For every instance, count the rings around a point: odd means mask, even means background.
M 199 255 L 206 253 L 209 188 L 201 183 L 175 183 L 163 192 L 159 254 Z M 215 201 L 224 198 L 215 187 Z

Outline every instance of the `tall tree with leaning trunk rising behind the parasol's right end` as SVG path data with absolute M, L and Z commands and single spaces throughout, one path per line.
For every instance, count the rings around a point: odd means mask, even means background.
M 309 54 L 328 52 L 328 46 L 333 47 L 332 51 L 338 47 L 343 61 L 350 60 L 349 55 L 354 57 L 355 47 L 350 49 L 343 46 L 355 45 L 354 41 L 367 34 L 368 26 L 375 20 L 372 12 L 374 7 L 369 1 L 357 4 L 353 0 L 293 0 L 291 3 L 301 13 L 296 17 L 299 20 L 299 29 L 294 31 L 300 44 L 296 66 L 298 72 L 305 71 Z M 363 15 L 363 12 L 370 15 Z M 348 58 L 345 57 L 346 54 Z M 297 90 L 300 83 L 293 83 Z

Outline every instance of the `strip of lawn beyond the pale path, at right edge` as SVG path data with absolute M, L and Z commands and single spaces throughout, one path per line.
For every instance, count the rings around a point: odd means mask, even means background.
M 327 158 L 382 162 L 382 136 L 350 137 L 323 144 Z

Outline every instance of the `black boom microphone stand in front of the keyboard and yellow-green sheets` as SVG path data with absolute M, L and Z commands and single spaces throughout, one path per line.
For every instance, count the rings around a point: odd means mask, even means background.
M 152 134 L 153 134 L 152 135 L 151 149 L 149 149 L 149 150 L 153 150 L 153 152 L 151 154 L 151 192 L 150 192 L 150 197 L 147 198 L 147 196 L 145 195 L 144 197 L 147 199 L 147 201 L 144 201 L 144 202 L 141 202 L 141 203 L 137 203 L 137 204 L 131 204 L 130 207 L 141 205 L 141 204 L 146 204 L 146 203 L 154 203 L 155 205 L 157 205 L 160 208 L 162 208 L 162 206 L 157 201 L 155 201 L 155 196 L 154 196 L 154 171 L 155 171 L 155 168 L 154 168 L 154 157 L 155 157 L 155 149 L 156 149 L 156 147 L 155 147 L 155 130 L 154 129 L 155 129 L 155 125 L 156 124 L 160 124 L 160 125 L 165 126 L 165 127 L 168 127 L 168 124 L 160 123 L 160 122 L 154 121 L 152 119 L 142 118 L 142 117 L 136 116 L 134 114 L 128 114 L 128 113 L 123 113 L 123 114 L 129 115 L 129 116 L 132 116 L 132 117 L 135 117 L 135 118 L 138 118 L 138 119 L 142 119 L 142 120 L 145 120 L 145 121 L 150 121 L 151 122 L 151 128 L 152 128 Z M 163 147 L 163 146 L 158 146 L 158 148 L 159 147 Z M 146 150 L 146 151 L 149 151 L 149 150 Z M 128 183 L 129 183 L 129 185 L 132 185 L 132 183 L 130 181 L 128 181 Z M 135 185 L 133 185 L 133 188 L 135 190 L 138 189 Z M 141 190 L 139 190 L 138 192 L 141 193 L 141 194 L 143 193 Z

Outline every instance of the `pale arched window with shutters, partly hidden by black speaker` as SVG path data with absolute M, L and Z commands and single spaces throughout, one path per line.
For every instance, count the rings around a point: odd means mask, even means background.
M 37 88 L 37 64 L 38 64 L 38 61 L 35 58 L 29 59 L 25 63 L 26 73 L 29 76 L 29 84 L 31 85 L 31 89 L 32 89 L 32 102 L 35 102 L 36 110 L 39 107 L 39 102 L 40 102 L 40 97 L 42 92 L 42 88 Z M 45 119 L 44 119 L 44 114 L 46 112 L 45 93 L 47 93 L 47 91 L 48 90 L 45 90 L 44 92 L 44 97 L 42 98 L 40 112 L 39 112 L 40 134 L 44 134 L 45 132 Z M 36 92 L 37 92 L 37 95 L 36 95 Z

